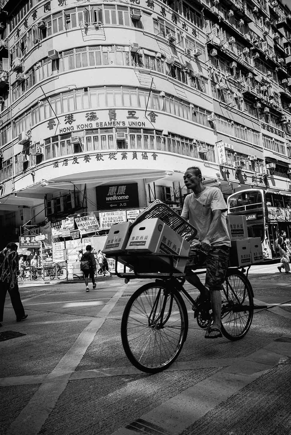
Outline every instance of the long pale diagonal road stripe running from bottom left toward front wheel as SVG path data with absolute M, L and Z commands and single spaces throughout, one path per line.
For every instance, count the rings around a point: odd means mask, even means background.
M 99 312 L 101 318 L 94 318 L 75 340 L 71 348 L 61 358 L 56 367 L 44 379 L 42 385 L 34 393 L 28 404 L 23 408 L 7 430 L 7 435 L 37 435 L 50 412 L 66 388 L 72 372 L 80 363 L 96 333 L 103 325 L 106 316 L 115 307 L 121 297 L 125 285 L 118 290 Z M 57 382 L 56 382 L 57 381 Z

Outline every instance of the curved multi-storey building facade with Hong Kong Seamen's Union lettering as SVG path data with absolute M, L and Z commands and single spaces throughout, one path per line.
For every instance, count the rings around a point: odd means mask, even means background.
M 291 11 L 279 1 L 0 5 L 3 244 L 68 215 L 156 198 L 179 210 L 189 166 L 225 197 L 291 191 Z

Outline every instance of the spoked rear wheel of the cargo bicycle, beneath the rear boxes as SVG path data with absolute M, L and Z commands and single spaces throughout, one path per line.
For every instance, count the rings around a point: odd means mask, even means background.
M 231 341 L 240 340 L 250 329 L 254 315 L 250 281 L 238 270 L 229 271 L 221 294 L 221 332 Z

